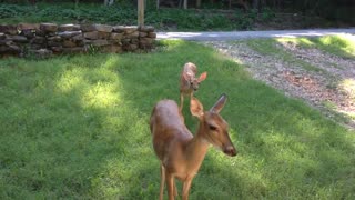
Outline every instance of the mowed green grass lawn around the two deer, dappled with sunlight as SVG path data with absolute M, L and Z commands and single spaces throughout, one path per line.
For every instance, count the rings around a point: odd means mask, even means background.
M 239 150 L 211 147 L 191 199 L 355 198 L 354 131 L 210 48 L 163 41 L 153 53 L 0 60 L 0 199 L 158 199 L 149 118 L 179 99 L 187 61 L 209 72 L 205 109 L 229 96 L 221 116 Z M 187 103 L 184 114 L 194 132 Z

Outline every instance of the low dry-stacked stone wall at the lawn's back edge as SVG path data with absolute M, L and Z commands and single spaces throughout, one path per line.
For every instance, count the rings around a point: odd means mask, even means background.
M 150 26 L 0 24 L 0 54 L 135 52 L 152 49 L 155 38 Z

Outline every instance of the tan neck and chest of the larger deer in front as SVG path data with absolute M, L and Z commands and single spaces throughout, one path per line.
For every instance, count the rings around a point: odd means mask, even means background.
M 207 153 L 210 143 L 203 137 L 203 127 L 200 123 L 199 130 L 187 144 L 187 158 L 191 162 L 189 166 L 199 170 L 205 154 Z

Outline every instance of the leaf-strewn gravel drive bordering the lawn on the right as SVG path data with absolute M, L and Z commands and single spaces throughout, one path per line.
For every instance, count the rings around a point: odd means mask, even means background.
M 355 37 L 355 36 L 353 36 Z M 245 42 L 205 42 L 234 61 L 246 66 L 251 74 L 288 97 L 304 100 L 329 119 L 355 129 L 355 60 L 318 49 L 305 49 L 292 42 L 277 43 L 317 70 L 306 70 L 298 62 L 261 54 Z

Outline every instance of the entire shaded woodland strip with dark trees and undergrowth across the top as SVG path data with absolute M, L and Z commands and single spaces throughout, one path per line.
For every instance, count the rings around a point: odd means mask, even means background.
M 0 0 L 0 22 L 23 20 L 37 22 L 39 19 L 47 19 L 57 22 L 78 20 L 78 22 L 135 24 L 136 21 L 136 0 Z M 112 4 L 104 8 L 104 4 L 110 2 Z M 355 24 L 353 0 L 231 0 L 231 6 L 229 0 L 202 0 L 201 10 L 195 10 L 196 0 L 189 1 L 187 10 L 179 9 L 179 4 L 181 6 L 179 0 L 160 0 L 161 7 L 172 8 L 160 10 L 156 10 L 155 0 L 145 2 L 145 21 L 158 29 L 251 30 L 257 27 L 256 22 L 265 23 L 274 19 L 274 23 L 277 24 L 290 21 L 290 18 L 297 18 L 297 21 L 291 19 L 290 28 Z M 314 17 L 331 20 L 332 23 L 314 20 Z M 292 27 L 293 24 L 296 27 Z M 274 29 L 285 28 L 287 27 Z

